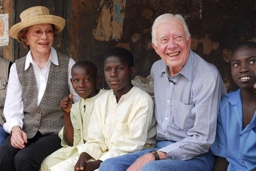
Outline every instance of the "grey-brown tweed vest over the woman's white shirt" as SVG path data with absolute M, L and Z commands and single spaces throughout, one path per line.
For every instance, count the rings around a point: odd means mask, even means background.
M 59 66 L 51 63 L 43 98 L 37 106 L 37 86 L 32 64 L 25 68 L 26 56 L 16 61 L 18 78 L 22 85 L 24 101 L 23 130 L 28 138 L 33 138 L 37 131 L 44 134 L 58 134 L 64 125 L 60 108 L 62 98 L 69 95 L 68 66 L 69 58 L 57 53 Z

